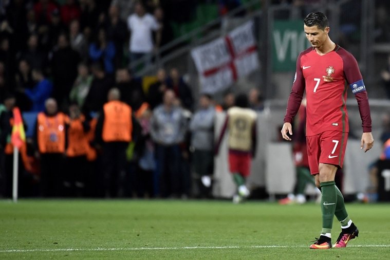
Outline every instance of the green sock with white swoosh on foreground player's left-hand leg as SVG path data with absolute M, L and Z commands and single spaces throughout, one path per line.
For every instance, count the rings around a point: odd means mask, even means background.
M 325 181 L 320 183 L 321 197 L 321 212 L 322 212 L 322 228 L 331 229 L 333 225 L 333 217 L 335 216 L 337 191 L 335 181 Z M 327 232 L 330 233 L 330 232 Z

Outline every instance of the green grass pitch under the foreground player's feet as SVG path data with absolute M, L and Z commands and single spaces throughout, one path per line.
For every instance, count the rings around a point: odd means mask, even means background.
M 311 250 L 314 203 L 0 200 L 0 259 L 389 259 L 389 206 L 348 204 L 359 237 Z M 332 242 L 339 232 L 335 218 Z

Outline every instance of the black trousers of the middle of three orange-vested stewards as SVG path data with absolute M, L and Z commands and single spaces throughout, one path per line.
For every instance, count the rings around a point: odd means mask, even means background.
M 81 197 L 84 195 L 86 173 L 86 156 L 66 158 L 66 173 L 64 174 L 65 196 Z

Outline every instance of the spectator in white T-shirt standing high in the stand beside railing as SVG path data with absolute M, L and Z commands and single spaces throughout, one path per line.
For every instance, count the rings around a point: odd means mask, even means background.
M 154 16 L 146 13 L 144 6 L 138 2 L 135 6 L 135 13 L 127 18 L 127 28 L 131 33 L 130 62 L 144 58 L 145 65 L 150 65 L 153 51 L 161 43 L 161 26 Z M 153 31 L 156 32 L 155 41 L 153 41 Z

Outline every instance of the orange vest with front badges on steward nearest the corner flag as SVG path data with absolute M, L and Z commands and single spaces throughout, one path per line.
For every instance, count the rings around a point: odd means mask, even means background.
M 65 152 L 65 123 L 67 118 L 61 112 L 48 117 L 38 114 L 38 148 L 41 154 Z

